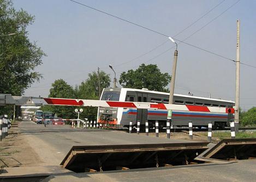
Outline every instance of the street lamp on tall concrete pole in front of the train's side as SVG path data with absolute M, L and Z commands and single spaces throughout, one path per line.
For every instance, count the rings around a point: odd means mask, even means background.
M 169 104 L 173 104 L 174 103 L 174 84 L 175 84 L 177 57 L 178 57 L 178 50 L 177 50 L 178 45 L 174 41 L 174 39 L 172 39 L 171 37 L 169 37 L 168 39 L 170 39 L 172 41 L 172 43 L 176 44 L 176 50 L 174 51 L 174 64 L 172 65 L 171 88 L 170 88 L 170 96 L 169 96 Z M 170 127 L 170 123 L 171 123 L 171 115 L 172 115 L 172 110 L 168 110 L 168 116 L 167 116 L 168 123 L 166 124 L 166 126 L 169 125 L 169 127 Z M 170 138 L 170 132 L 169 132 L 169 134 L 167 134 L 167 138 Z

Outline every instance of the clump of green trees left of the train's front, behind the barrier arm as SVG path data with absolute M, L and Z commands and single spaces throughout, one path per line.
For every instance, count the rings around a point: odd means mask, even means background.
M 98 76 L 95 71 L 93 71 L 92 74 L 88 74 L 88 79 L 82 82 L 80 86 L 75 86 L 75 88 L 69 86 L 69 84 L 64 80 L 59 79 L 52 83 L 49 97 L 98 100 L 98 83 Z M 106 75 L 104 71 L 100 71 L 100 88 L 103 89 L 109 86 L 109 75 Z M 78 117 L 78 114 L 75 113 L 75 108 L 80 109 L 80 107 L 74 106 L 43 106 L 41 109 L 43 111 L 51 111 L 53 113 L 56 113 L 58 117 L 62 117 L 65 119 L 74 119 Z M 80 114 L 80 119 L 97 119 L 97 107 L 85 107 L 83 108 L 83 110 L 84 111 Z

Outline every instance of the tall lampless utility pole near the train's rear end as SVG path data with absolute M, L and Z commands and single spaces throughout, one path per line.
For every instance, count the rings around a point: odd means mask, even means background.
M 236 21 L 236 102 L 235 102 L 235 132 L 239 132 L 239 82 L 240 82 L 240 20 Z

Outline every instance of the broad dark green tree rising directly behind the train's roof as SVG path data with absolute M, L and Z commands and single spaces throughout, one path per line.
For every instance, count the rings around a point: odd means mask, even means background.
M 168 73 L 162 73 L 156 64 L 141 64 L 138 69 L 124 71 L 119 83 L 125 88 L 147 88 L 149 90 L 168 92 L 165 87 L 171 80 Z

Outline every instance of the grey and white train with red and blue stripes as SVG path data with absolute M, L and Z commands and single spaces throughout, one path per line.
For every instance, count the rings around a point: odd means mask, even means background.
M 168 104 L 169 93 L 156 92 L 143 88 L 104 88 L 100 96 L 100 100 Z M 222 99 L 174 94 L 174 104 L 233 107 L 235 102 Z M 144 128 L 147 120 L 148 128 L 151 129 L 154 128 L 155 121 L 158 120 L 159 129 L 162 129 L 166 127 L 167 114 L 168 111 L 166 110 L 98 107 L 97 122 L 115 126 L 117 129 L 127 129 L 130 122 L 133 123 L 133 126 L 136 126 L 138 121 L 140 121 L 140 128 Z M 213 128 L 224 128 L 229 125 L 227 113 L 172 111 L 171 125 L 188 126 L 189 122 L 192 122 L 193 126 L 198 127 L 207 126 L 208 123 L 212 123 Z

